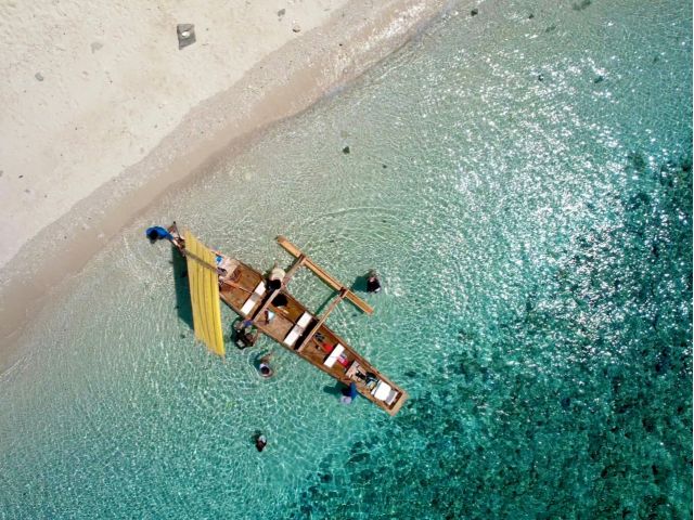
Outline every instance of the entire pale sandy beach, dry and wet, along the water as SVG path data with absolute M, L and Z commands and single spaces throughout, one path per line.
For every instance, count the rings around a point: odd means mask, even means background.
M 0 340 L 172 184 L 361 74 L 444 3 L 2 3 Z M 177 24 L 194 24 L 193 44 L 179 50 Z

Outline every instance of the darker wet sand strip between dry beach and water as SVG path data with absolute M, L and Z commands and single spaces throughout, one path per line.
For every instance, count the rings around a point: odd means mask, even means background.
M 0 374 L 22 358 L 28 321 L 63 281 L 177 186 L 236 155 L 272 125 L 354 81 L 444 12 L 442 0 L 350 0 L 198 104 L 139 162 L 103 183 L 0 268 Z M 362 13 L 368 13 L 365 17 Z

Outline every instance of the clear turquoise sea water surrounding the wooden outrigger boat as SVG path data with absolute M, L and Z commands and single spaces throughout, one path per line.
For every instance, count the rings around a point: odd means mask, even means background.
M 36 316 L 0 378 L 0 518 L 691 517 L 692 5 L 478 11 L 220 160 Z M 330 323 L 408 389 L 398 416 L 268 340 L 195 344 L 143 235 L 174 219 L 260 269 L 277 234 L 378 269 L 374 315 Z

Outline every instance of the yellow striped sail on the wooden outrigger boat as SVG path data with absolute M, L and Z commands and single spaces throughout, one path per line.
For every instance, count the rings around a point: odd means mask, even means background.
M 221 334 L 219 282 L 215 253 L 190 231 L 185 231 L 184 239 L 195 337 L 211 352 L 223 356 L 224 340 Z

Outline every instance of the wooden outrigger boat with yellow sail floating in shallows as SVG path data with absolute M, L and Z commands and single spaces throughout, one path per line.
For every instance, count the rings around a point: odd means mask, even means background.
M 343 300 L 350 301 L 368 314 L 373 309 L 290 240 L 278 237 L 280 246 L 295 258 L 294 263 L 286 272 L 280 270 L 278 275 L 273 270 L 266 277 L 236 259 L 213 251 L 190 232 L 181 235 L 176 223 L 166 231 L 162 227 L 151 230 L 159 230 L 157 237 L 169 239 L 187 258 L 195 336 L 210 351 L 224 355 L 219 312 L 221 299 L 246 325 L 257 327 L 329 376 L 356 389 L 388 414 L 395 415 L 402 407 L 408 393 L 325 324 L 327 316 Z M 154 237 L 150 230 L 147 236 Z M 287 289 L 287 284 L 301 268 L 312 271 L 336 291 L 320 316 L 312 314 Z

